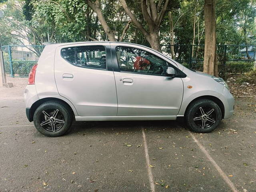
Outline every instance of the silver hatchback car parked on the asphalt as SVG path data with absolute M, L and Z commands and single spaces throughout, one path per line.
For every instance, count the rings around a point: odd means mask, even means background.
M 76 121 L 176 120 L 214 130 L 234 112 L 222 78 L 195 72 L 146 46 L 123 42 L 47 45 L 29 74 L 26 116 L 46 136 Z

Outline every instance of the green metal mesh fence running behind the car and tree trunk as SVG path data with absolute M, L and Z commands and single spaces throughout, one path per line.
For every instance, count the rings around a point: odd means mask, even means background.
M 161 45 L 162 52 L 180 64 L 196 70 L 203 69 L 204 45 Z M 27 77 L 38 61 L 44 46 L 2 46 L 7 76 Z M 230 62 L 247 62 L 250 67 L 256 63 L 256 45 L 217 45 L 219 71 L 222 76 L 232 71 Z M 236 63 L 234 63 L 236 64 Z M 228 69 L 229 68 L 229 69 Z M 234 71 L 234 70 L 233 70 Z

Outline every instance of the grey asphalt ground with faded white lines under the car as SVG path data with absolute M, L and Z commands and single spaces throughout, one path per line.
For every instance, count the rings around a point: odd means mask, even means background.
M 0 192 L 255 192 L 256 98 L 196 134 L 178 121 L 75 122 L 48 138 L 26 119 L 26 80 L 0 89 Z

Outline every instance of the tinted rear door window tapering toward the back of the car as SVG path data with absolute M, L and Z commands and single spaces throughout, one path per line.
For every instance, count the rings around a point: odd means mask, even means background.
M 74 66 L 106 69 L 106 50 L 104 46 L 63 48 L 61 56 Z

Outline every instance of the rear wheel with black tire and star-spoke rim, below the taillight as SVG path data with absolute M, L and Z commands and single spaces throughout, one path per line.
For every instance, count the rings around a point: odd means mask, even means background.
M 62 102 L 48 101 L 36 109 L 33 119 L 36 129 L 41 134 L 58 137 L 71 130 L 73 112 Z

